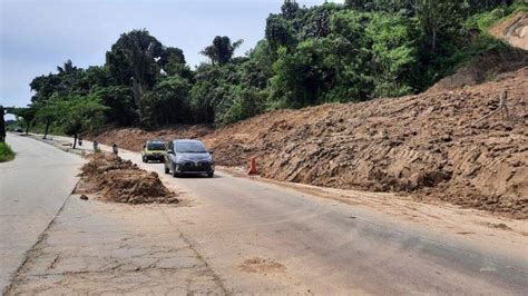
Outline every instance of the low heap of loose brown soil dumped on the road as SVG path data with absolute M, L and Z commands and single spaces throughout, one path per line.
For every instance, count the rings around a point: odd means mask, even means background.
M 95 154 L 81 171 L 77 193 L 99 194 L 102 199 L 115 203 L 178 203 L 176 194 L 163 185 L 156 172 L 139 169 L 116 155 Z

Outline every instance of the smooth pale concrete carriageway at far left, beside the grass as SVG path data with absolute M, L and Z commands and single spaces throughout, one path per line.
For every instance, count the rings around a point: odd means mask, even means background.
M 84 162 L 32 139 L 7 140 L 17 157 L 0 164 L 0 290 L 71 194 Z

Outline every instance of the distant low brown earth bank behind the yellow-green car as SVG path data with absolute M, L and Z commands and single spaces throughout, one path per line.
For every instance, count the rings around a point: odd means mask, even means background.
M 174 140 L 174 139 L 196 139 L 213 131 L 209 126 L 176 126 L 160 129 L 157 131 L 147 131 L 139 128 L 109 129 L 98 135 L 91 135 L 90 139 L 111 145 L 116 142 L 120 148 L 140 151 L 143 144 L 147 140 Z

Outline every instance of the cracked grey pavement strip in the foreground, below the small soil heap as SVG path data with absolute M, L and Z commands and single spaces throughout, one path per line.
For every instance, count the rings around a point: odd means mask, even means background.
M 7 295 L 225 294 L 221 279 L 165 217 L 165 207 L 172 206 L 71 196 Z

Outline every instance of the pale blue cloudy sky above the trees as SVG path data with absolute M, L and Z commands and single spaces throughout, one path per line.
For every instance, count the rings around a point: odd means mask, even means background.
M 324 0 L 297 0 L 313 6 Z M 0 105 L 26 106 L 36 76 L 67 59 L 86 68 L 105 62 L 123 32 L 147 29 L 184 50 L 194 67 L 217 34 L 244 39 L 243 55 L 264 37 L 268 13 L 283 0 L 0 0 Z

